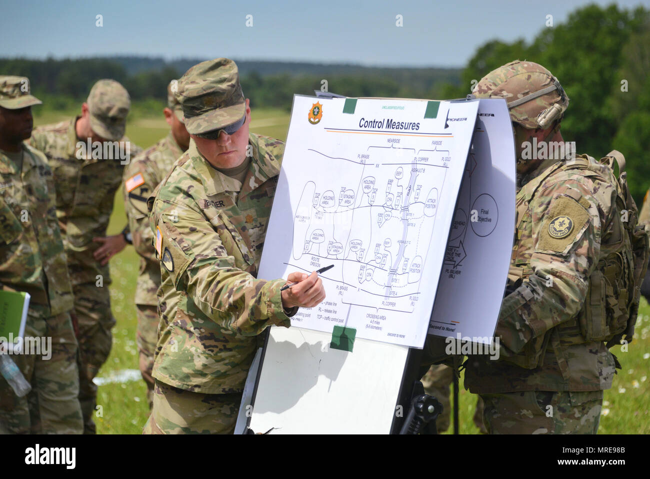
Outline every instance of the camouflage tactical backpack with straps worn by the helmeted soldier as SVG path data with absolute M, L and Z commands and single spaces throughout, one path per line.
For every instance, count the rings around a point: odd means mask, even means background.
M 614 173 L 614 161 L 619 168 L 618 178 Z M 603 168 L 603 165 L 606 168 Z M 572 336 L 565 337 L 565 341 L 568 340 L 573 344 L 604 341 L 608 348 L 621 344 L 624 335 L 625 341 L 631 342 L 634 335 L 641 284 L 648 266 L 650 248 L 645 229 L 637 225 L 638 210 L 627 185 L 625 157 L 613 150 L 600 161 L 592 157 L 588 159 L 577 157 L 575 161 L 562 163 L 547 170 L 543 176 L 532 180 L 534 184 L 526 185 L 531 188 L 530 197 L 534 196 L 536 189 L 547 178 L 558 171 L 572 169 L 581 170 L 584 176 L 599 178 L 614 186 L 616 202 L 612 204 L 612 208 L 615 214 L 611 216 L 610 224 L 603 225 L 604 238 L 601 239 L 601 253 L 605 253 L 605 256 L 599 260 L 590 275 L 589 288 L 582 310 L 571 321 L 531 340 L 523 349 L 523 354 L 506 359 L 527 369 L 541 366 L 549 343 L 554 348 L 559 346 L 558 331 L 556 331 L 558 328 L 562 329 L 564 334 Z M 521 207 L 527 208 L 528 204 L 521 204 Z M 529 267 L 511 266 L 508 274 L 510 285 L 508 290 L 517 288 L 530 274 L 532 270 Z

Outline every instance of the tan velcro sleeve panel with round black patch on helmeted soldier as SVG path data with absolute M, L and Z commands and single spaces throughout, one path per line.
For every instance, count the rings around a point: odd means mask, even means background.
M 558 197 L 551 203 L 539 230 L 535 251 L 566 254 L 582 234 L 589 213 L 573 198 Z

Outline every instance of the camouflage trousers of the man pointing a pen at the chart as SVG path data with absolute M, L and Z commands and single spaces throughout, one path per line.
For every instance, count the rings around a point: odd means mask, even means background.
M 156 379 L 143 434 L 232 434 L 242 394 L 201 394 Z

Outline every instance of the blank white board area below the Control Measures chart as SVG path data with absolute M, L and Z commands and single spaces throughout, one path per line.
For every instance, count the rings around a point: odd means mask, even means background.
M 409 348 L 357 339 L 350 352 L 330 348 L 330 341 L 331 333 L 322 331 L 271 328 L 250 429 L 270 434 L 391 430 Z

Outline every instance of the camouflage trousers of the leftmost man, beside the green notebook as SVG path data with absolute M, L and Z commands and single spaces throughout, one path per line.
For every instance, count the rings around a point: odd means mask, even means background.
M 77 340 L 70 314 L 66 312 L 46 320 L 28 316 L 25 338 L 42 337 L 51 338 L 51 344 L 47 346 L 47 340 L 45 346 L 41 343 L 40 351 L 36 349 L 38 354 L 10 355 L 32 386 L 27 396 L 16 396 L 0 376 L 0 434 L 83 432 Z

